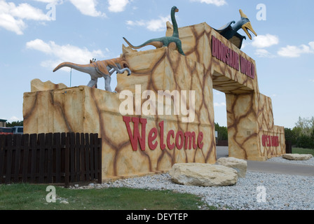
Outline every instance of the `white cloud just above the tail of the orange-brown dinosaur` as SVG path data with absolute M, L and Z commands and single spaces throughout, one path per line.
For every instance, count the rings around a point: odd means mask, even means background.
M 78 64 L 88 64 L 92 58 L 104 57 L 102 50 L 90 51 L 87 48 L 78 48 L 74 45 L 57 45 L 54 41 L 46 43 L 41 39 L 35 39 L 26 43 L 27 49 L 39 50 L 51 55 L 54 59 L 41 62 L 41 66 L 54 69 L 62 62 L 74 62 Z

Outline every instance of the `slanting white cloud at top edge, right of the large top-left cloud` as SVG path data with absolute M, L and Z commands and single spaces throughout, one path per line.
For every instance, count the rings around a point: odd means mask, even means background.
M 83 14 L 93 17 L 106 16 L 96 10 L 97 1 L 96 0 L 70 0 L 71 3 Z

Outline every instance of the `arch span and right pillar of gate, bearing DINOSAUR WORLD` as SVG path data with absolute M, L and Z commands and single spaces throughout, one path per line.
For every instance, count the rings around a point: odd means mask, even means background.
M 212 87 L 226 94 L 229 156 L 266 160 L 285 153 L 285 129 L 274 125 L 271 98 L 259 92 L 254 59 L 205 22 L 180 28 L 179 36 L 186 57 L 203 64 Z

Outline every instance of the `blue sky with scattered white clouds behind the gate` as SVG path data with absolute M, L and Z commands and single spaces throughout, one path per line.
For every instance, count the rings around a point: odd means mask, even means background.
M 23 93 L 34 78 L 70 86 L 69 69 L 53 73 L 60 62 L 118 57 L 123 36 L 135 45 L 165 36 L 172 6 L 179 8 L 179 27 L 207 22 L 219 28 L 238 21 L 242 9 L 258 36 L 241 50 L 257 63 L 259 90 L 272 99 L 275 125 L 292 128 L 299 116 L 314 116 L 314 1 L 0 0 L 0 118 L 22 120 Z M 71 86 L 89 80 L 72 70 Z M 104 89 L 102 80 L 98 84 Z M 214 91 L 214 113 L 226 126 L 222 92 Z

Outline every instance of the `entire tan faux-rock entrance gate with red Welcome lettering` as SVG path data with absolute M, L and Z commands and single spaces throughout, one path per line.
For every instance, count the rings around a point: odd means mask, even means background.
M 168 27 L 166 36 L 171 35 Z M 206 23 L 179 28 L 179 36 L 185 55 L 170 48 L 137 52 L 123 46 L 132 74 L 117 76 L 117 93 L 36 83 L 36 91 L 24 94 L 25 133 L 97 133 L 102 179 L 166 172 L 179 162 L 213 164 L 216 89 L 226 94 L 229 156 L 266 160 L 285 153 L 284 127 L 274 125 L 271 98 L 259 92 L 254 60 Z M 182 122 L 182 113 L 141 113 L 143 106 L 157 111 L 174 103 L 171 95 L 170 102 L 158 102 L 146 90 L 156 95 L 193 90 L 195 105 L 188 104 L 189 94 L 181 98 L 193 121 Z M 128 99 L 130 113 L 122 114 Z

